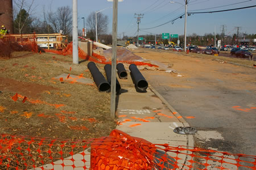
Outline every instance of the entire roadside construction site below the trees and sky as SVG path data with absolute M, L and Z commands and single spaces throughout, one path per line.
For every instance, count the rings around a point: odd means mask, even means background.
M 14 34 L 2 2 L 0 169 L 256 169 L 254 57 Z

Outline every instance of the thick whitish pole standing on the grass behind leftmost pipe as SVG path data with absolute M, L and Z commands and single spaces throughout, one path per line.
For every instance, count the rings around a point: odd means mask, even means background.
M 79 64 L 78 34 L 77 34 L 77 0 L 73 0 L 73 64 Z

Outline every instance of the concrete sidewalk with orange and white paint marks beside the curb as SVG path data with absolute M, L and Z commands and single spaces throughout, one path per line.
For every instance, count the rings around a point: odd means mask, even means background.
M 135 90 L 130 76 L 127 80 L 119 82 L 122 90 L 116 101 L 118 130 L 154 144 L 166 143 L 172 147 L 194 146 L 193 135 L 174 132 L 175 127 L 189 125 L 152 86 L 149 86 L 146 93 L 139 93 Z M 180 158 L 178 162 L 185 164 L 186 156 L 181 155 Z

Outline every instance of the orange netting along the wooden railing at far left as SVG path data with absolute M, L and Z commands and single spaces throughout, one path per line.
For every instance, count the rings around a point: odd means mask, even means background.
M 0 38 L 0 56 L 10 57 L 14 51 L 38 52 L 35 34 L 23 37 L 22 35 L 5 35 Z

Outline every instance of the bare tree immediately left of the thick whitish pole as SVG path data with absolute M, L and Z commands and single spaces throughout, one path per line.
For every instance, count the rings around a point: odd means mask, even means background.
M 69 6 L 59 7 L 56 12 L 47 13 L 47 21 L 55 32 L 72 33 L 72 9 Z

